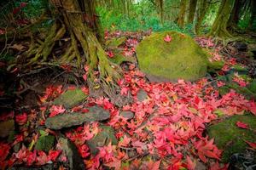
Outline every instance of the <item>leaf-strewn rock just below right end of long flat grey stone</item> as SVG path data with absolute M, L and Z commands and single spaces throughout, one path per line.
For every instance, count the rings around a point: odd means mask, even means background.
M 113 127 L 101 126 L 102 132 L 98 133 L 94 138 L 88 140 L 86 144 L 90 148 L 90 153 L 96 156 L 98 153 L 97 147 L 108 145 L 110 142 L 113 145 L 118 144 L 118 140 L 115 138 Z

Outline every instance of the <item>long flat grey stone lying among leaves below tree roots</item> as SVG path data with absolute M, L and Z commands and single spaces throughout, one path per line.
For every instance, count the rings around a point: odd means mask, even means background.
M 102 107 L 93 106 L 88 108 L 87 113 L 68 113 L 53 117 L 48 117 L 45 121 L 45 126 L 50 129 L 59 130 L 63 127 L 73 127 L 81 125 L 84 122 L 105 121 L 110 117 L 108 111 Z

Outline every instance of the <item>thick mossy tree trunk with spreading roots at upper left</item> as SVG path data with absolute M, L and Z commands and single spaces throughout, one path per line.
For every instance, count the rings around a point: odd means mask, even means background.
M 32 42 L 28 56 L 34 57 L 28 65 L 35 64 L 42 57 L 43 60 L 48 59 L 55 43 L 68 35 L 71 41 L 58 62 L 65 64 L 76 59 L 78 67 L 89 65 L 88 78 L 91 81 L 96 78 L 94 71 L 100 72 L 101 80 L 107 77 L 108 80 L 117 79 L 119 74 L 113 70 L 97 38 L 99 25 L 94 3 L 94 0 L 61 0 L 54 3 L 59 20 L 55 20 L 44 42 Z

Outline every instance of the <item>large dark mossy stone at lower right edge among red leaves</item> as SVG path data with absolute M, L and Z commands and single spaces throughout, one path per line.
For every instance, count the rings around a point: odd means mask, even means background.
M 218 148 L 224 150 L 222 160 L 227 162 L 234 153 L 243 153 L 248 145 L 245 140 L 255 142 L 256 135 L 249 129 L 242 129 L 236 126 L 236 122 L 244 122 L 256 129 L 256 116 L 252 114 L 232 116 L 223 122 L 208 127 L 210 138 L 214 138 Z

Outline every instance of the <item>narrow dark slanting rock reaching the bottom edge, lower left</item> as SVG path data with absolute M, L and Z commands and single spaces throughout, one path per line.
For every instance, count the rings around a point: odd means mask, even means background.
M 76 146 L 69 139 L 65 138 L 60 138 L 59 143 L 61 144 L 61 150 L 67 155 L 70 169 L 84 170 L 84 161 Z

